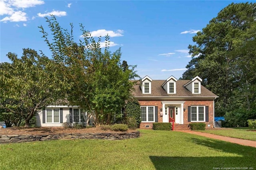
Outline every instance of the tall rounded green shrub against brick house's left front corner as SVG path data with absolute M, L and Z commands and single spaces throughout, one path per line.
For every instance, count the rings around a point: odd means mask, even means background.
M 140 110 L 140 103 L 137 99 L 130 99 L 126 106 L 125 106 L 125 113 L 126 113 L 126 117 L 127 119 L 129 117 L 132 117 L 136 120 L 137 123 L 137 128 L 140 127 L 140 123 L 141 123 L 141 110 Z M 127 121 L 127 120 L 126 120 Z

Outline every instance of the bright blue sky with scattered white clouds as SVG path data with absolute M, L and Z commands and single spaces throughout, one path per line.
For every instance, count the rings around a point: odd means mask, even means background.
M 235 1 L 240 2 L 240 1 Z M 242 1 L 246 2 L 246 1 Z M 191 60 L 188 45 L 218 12 L 232 1 L 52 1 L 0 0 L 0 62 L 8 52 L 22 56 L 22 48 L 51 53 L 38 26 L 48 29 L 45 16 L 54 14 L 62 28 L 79 23 L 93 36 L 110 36 L 110 51 L 121 47 L 122 60 L 137 65 L 140 77 L 177 79 Z M 104 40 L 104 38 L 102 38 Z

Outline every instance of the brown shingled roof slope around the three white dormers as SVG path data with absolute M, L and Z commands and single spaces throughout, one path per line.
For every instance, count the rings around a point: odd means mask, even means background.
M 183 87 L 190 80 L 178 80 L 176 81 L 176 94 L 168 94 L 162 84 L 166 80 L 152 80 L 151 82 L 151 94 L 142 94 L 140 89 L 140 81 L 134 85 L 135 91 L 132 92 L 134 97 L 218 97 L 210 90 L 201 85 L 201 94 L 192 94 L 188 89 Z

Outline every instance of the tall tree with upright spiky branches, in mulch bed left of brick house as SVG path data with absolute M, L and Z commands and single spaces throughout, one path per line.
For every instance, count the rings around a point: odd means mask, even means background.
M 120 111 L 125 101 L 130 98 L 137 77 L 135 66 L 121 64 L 121 50 L 109 51 L 109 38 L 105 37 L 104 49 L 101 38 L 95 40 L 89 31 L 80 24 L 83 40 L 75 42 L 73 25 L 71 31 L 60 27 L 56 18 L 46 18 L 52 32 L 52 40 L 42 26 L 40 32 L 52 51 L 52 57 L 66 66 L 68 81 L 72 83 L 68 93 L 71 105 L 79 105 L 95 114 L 95 125 L 110 124 L 116 111 Z

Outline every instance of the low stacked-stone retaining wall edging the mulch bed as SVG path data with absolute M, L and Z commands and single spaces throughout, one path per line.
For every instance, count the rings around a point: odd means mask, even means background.
M 123 140 L 138 138 L 140 132 L 119 132 L 119 133 L 68 133 L 68 134 L 43 134 L 43 135 L 0 135 L 0 144 L 32 142 L 38 140 L 58 139 L 106 139 Z

